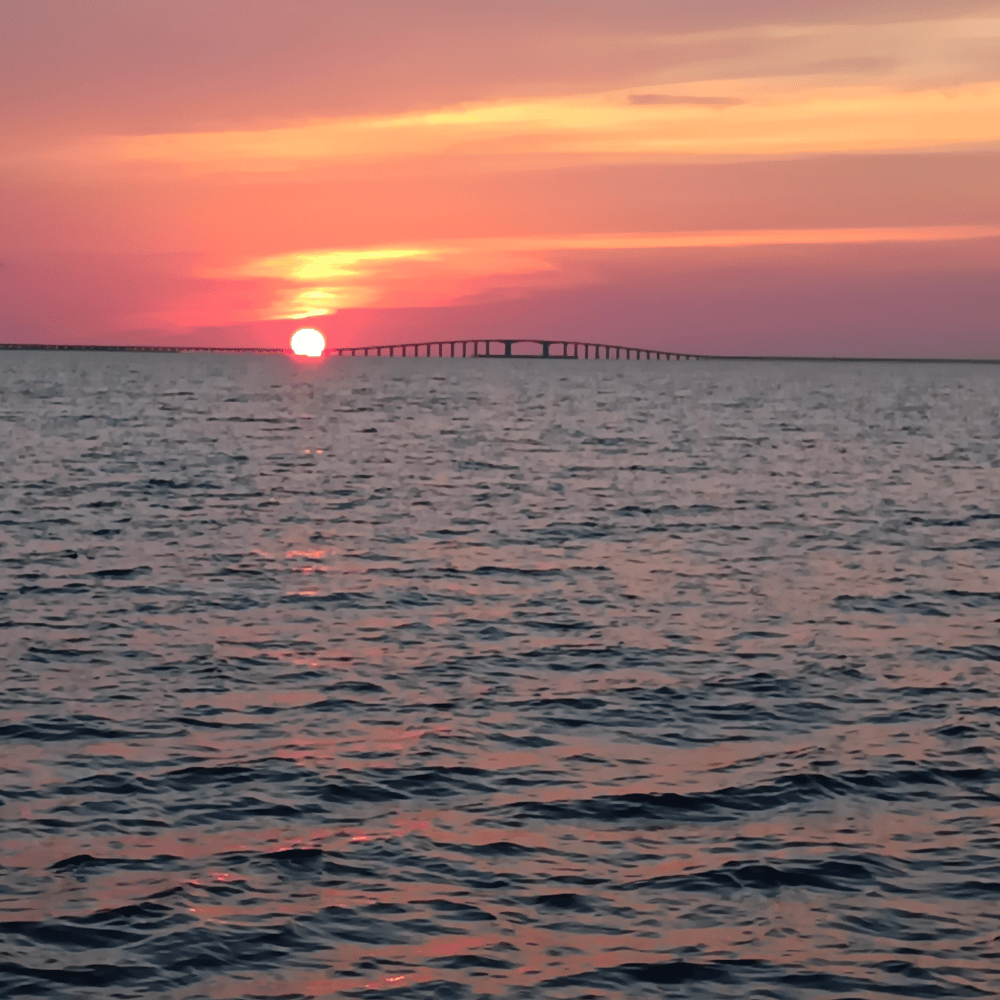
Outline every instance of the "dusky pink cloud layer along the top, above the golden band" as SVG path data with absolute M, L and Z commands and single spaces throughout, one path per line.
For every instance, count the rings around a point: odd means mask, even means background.
M 138 134 L 389 113 L 642 84 L 664 66 L 734 52 L 764 71 L 769 51 L 795 44 L 699 41 L 671 53 L 658 41 L 670 34 L 994 12 L 991 0 L 7 4 L 0 119 L 9 134 Z

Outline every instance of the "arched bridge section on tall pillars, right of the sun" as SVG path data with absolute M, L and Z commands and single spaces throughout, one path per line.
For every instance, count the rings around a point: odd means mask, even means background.
M 537 352 L 515 351 L 515 344 L 530 344 Z M 496 345 L 499 350 L 494 350 Z M 590 344 L 580 340 L 531 340 L 479 338 L 468 340 L 427 340 L 412 344 L 382 344 L 373 347 L 328 347 L 327 356 L 377 358 L 554 358 L 623 361 L 696 361 L 697 354 L 657 351 L 648 347 L 619 344 Z

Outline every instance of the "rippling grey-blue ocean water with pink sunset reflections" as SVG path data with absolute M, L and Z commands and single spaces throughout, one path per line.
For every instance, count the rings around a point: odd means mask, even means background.
M 0 361 L 0 997 L 1000 996 L 1000 369 Z

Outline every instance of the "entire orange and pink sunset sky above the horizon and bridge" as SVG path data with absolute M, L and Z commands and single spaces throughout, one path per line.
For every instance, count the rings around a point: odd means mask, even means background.
M 0 0 L 0 342 L 1000 357 L 1000 2 Z

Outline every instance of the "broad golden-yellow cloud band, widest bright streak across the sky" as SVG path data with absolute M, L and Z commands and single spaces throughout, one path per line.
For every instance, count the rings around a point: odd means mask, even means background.
M 717 88 L 731 94 L 733 85 L 721 81 Z M 629 92 L 616 91 L 259 132 L 103 137 L 12 156 L 6 164 L 42 174 L 72 168 L 80 174 L 160 169 L 198 175 L 429 157 L 452 164 L 489 157 L 491 165 L 497 157 L 512 163 L 516 157 L 523 166 L 539 167 L 608 158 L 648 163 L 992 148 L 1000 141 L 1000 82 L 909 91 L 869 84 L 792 87 L 784 79 L 737 85 L 742 98 L 725 92 L 655 95 L 667 99 L 636 106 Z M 729 111 L 717 115 L 722 102 Z

